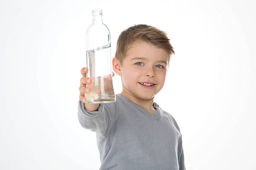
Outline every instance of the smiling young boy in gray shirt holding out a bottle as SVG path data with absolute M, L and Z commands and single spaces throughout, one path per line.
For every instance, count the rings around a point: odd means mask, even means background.
M 100 170 L 186 169 L 179 126 L 154 102 L 173 54 L 168 37 L 155 27 L 134 25 L 121 32 L 112 64 L 123 90 L 111 103 L 84 103 L 91 80 L 88 69 L 81 69 L 78 119 L 96 132 Z

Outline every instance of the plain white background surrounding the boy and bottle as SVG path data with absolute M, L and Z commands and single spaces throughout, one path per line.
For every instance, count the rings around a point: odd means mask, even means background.
M 134 24 L 176 55 L 154 101 L 177 120 L 187 170 L 256 170 L 253 0 L 0 2 L 0 169 L 98 170 L 96 133 L 77 118 L 85 32 L 103 10 L 112 57 Z M 113 77 L 115 93 L 122 90 Z

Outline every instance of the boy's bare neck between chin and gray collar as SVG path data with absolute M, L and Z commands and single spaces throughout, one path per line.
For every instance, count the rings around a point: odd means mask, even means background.
M 153 102 L 154 102 L 154 97 L 149 99 L 149 100 L 143 100 L 143 99 L 140 99 L 138 97 L 135 97 L 135 96 L 131 95 L 130 93 L 126 92 L 125 90 L 122 90 L 121 94 L 125 95 L 131 101 L 135 102 L 137 105 L 140 105 L 141 107 L 143 107 L 148 112 L 151 112 L 151 114 L 154 114 L 154 112 L 156 112 L 156 110 L 152 106 Z

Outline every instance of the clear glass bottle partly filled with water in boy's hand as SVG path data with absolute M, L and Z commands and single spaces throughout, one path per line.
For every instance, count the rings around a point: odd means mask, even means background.
M 115 102 L 112 82 L 110 31 L 102 23 L 102 10 L 92 10 L 92 25 L 86 31 L 87 77 L 92 82 L 86 87 L 86 103 Z

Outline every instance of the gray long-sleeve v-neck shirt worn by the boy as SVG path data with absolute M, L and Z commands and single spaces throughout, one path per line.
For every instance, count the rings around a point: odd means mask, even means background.
M 100 170 L 185 170 L 182 135 L 172 115 L 153 102 L 152 115 L 122 94 L 88 111 L 79 100 L 78 119 L 96 132 Z

